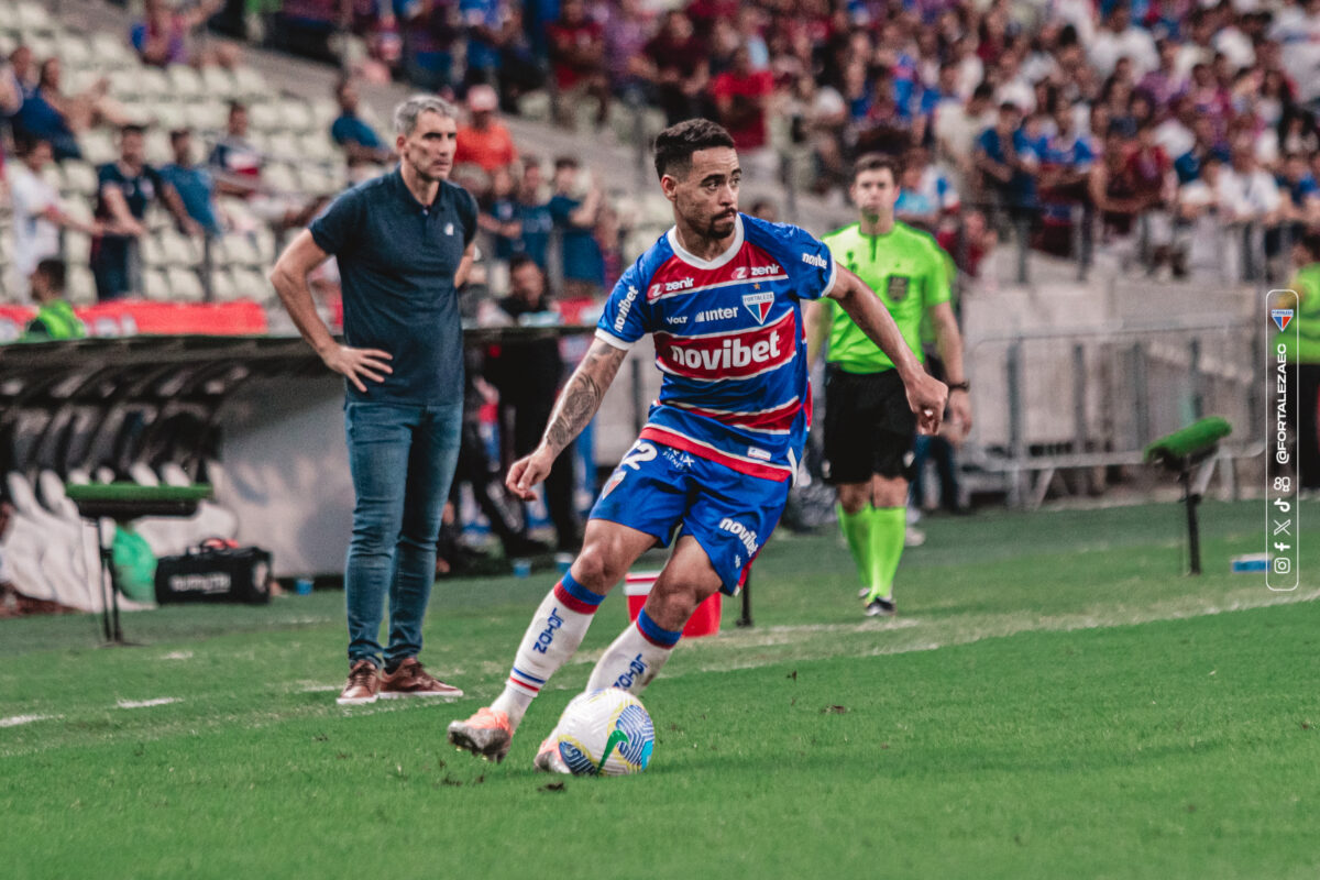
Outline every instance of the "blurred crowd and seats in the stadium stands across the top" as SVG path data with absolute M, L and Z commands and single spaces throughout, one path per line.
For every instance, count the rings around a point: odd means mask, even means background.
M 579 158 L 519 154 L 500 117 L 535 115 L 539 95 L 554 120 L 609 131 L 628 129 L 610 127 L 620 113 L 708 115 L 734 133 L 751 179 L 783 173 L 836 199 L 858 154 L 896 154 L 899 216 L 970 274 L 1011 231 L 1072 256 L 1082 237 L 1134 243 L 1151 272 L 1274 277 L 1288 243 L 1320 227 L 1313 1 L 147 0 L 121 45 L 168 75 L 162 91 L 201 83 L 207 113 L 144 113 L 148 90 L 95 63 L 66 78 L 88 59 L 45 38 L 58 22 L 42 33 L 13 18 L 0 144 L 15 301 L 71 236 L 88 236 L 65 256 L 91 269 L 96 298 L 240 296 L 288 230 L 392 162 L 360 79 L 463 103 L 455 179 L 482 204 L 502 289 L 508 260 L 527 253 L 569 296 L 598 297 L 636 249 L 638 218 Z M 260 87 L 214 88 L 251 75 L 207 21 L 345 62 L 338 107 L 294 128 Z M 111 156 L 107 131 L 120 141 Z M 70 206 L 71 193 L 86 202 Z M 133 240 L 144 268 L 129 273 Z M 87 277 L 70 278 L 84 299 Z

